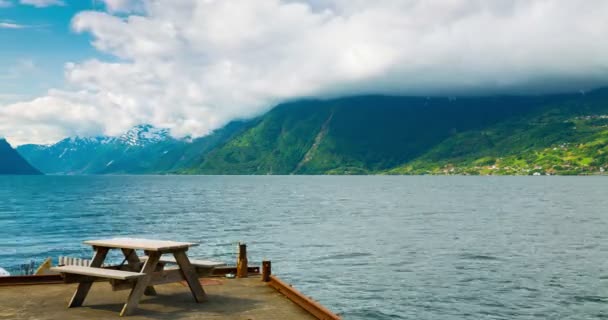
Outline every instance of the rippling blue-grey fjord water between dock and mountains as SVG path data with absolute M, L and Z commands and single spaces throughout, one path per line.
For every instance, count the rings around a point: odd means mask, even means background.
M 233 262 L 244 241 L 345 319 L 605 319 L 606 191 L 602 177 L 0 177 L 0 266 L 119 235 Z

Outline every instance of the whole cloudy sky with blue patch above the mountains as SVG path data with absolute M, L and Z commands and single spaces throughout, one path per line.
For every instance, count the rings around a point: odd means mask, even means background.
M 13 146 L 203 136 L 282 101 L 608 86 L 606 0 L 0 0 Z

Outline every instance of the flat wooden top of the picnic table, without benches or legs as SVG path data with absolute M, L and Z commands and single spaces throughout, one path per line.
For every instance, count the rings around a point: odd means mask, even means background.
M 193 242 L 177 242 L 177 241 L 166 241 L 166 240 L 152 240 L 152 239 L 137 239 L 137 238 L 112 238 L 102 240 L 87 240 L 85 244 L 106 247 L 106 248 L 119 248 L 119 249 L 141 249 L 149 251 L 166 251 L 166 250 L 177 250 L 193 246 L 198 246 L 198 243 Z

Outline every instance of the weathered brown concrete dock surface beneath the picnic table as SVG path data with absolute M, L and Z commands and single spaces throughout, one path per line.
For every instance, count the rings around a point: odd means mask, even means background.
M 137 312 L 125 319 L 314 319 L 259 277 L 213 278 L 203 284 L 209 298 L 203 303 L 195 303 L 182 284 L 155 286 L 158 295 L 144 297 Z M 113 292 L 108 283 L 96 282 L 83 307 L 67 309 L 75 288 L 72 284 L 0 287 L 0 319 L 120 319 L 128 290 Z

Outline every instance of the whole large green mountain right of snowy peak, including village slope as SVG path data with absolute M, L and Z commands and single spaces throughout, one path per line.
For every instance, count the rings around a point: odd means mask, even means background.
M 364 96 L 280 105 L 187 173 L 597 174 L 608 168 L 608 90 Z

